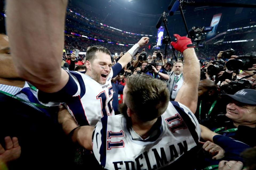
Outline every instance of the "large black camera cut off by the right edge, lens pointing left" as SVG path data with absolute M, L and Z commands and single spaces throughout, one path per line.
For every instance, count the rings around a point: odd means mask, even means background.
M 253 67 L 256 63 L 256 52 L 246 53 L 243 56 L 238 56 L 234 60 L 229 60 L 226 63 L 226 67 L 230 71 L 234 70 L 248 70 L 248 68 Z

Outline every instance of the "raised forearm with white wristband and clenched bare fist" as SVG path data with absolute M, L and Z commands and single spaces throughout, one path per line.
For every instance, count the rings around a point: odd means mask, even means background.
M 122 65 L 122 68 L 126 66 L 137 53 L 138 49 L 149 42 L 149 37 L 142 37 L 137 44 L 135 44 L 130 50 L 125 53 L 119 60 L 118 63 Z

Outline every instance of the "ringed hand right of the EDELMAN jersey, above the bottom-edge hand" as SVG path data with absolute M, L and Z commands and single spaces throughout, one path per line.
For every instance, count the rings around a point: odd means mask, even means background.
M 219 145 L 210 141 L 206 141 L 203 144 L 203 149 L 213 156 L 212 159 L 221 159 L 225 156 L 225 151 Z

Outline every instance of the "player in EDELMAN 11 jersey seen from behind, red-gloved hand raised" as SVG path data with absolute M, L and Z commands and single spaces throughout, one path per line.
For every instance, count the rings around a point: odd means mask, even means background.
M 73 130 L 73 141 L 93 150 L 103 168 L 193 169 L 200 138 L 193 114 L 200 67 L 191 40 L 174 36 L 177 43 L 171 44 L 185 60 L 184 83 L 175 101 L 169 101 L 170 93 L 161 80 L 145 74 L 132 75 L 123 91 L 123 114 L 105 116 L 95 128 L 81 126 Z M 70 116 L 66 110 L 60 114 Z

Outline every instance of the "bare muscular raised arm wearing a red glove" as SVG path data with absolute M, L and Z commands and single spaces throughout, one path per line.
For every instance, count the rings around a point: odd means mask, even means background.
M 200 65 L 195 54 L 195 46 L 191 39 L 187 37 L 180 37 L 174 34 L 177 42 L 171 42 L 173 47 L 183 53 L 184 68 L 183 68 L 183 85 L 179 89 L 175 101 L 178 101 L 187 106 L 193 113 L 197 109 L 198 100 L 198 84 L 200 81 Z

